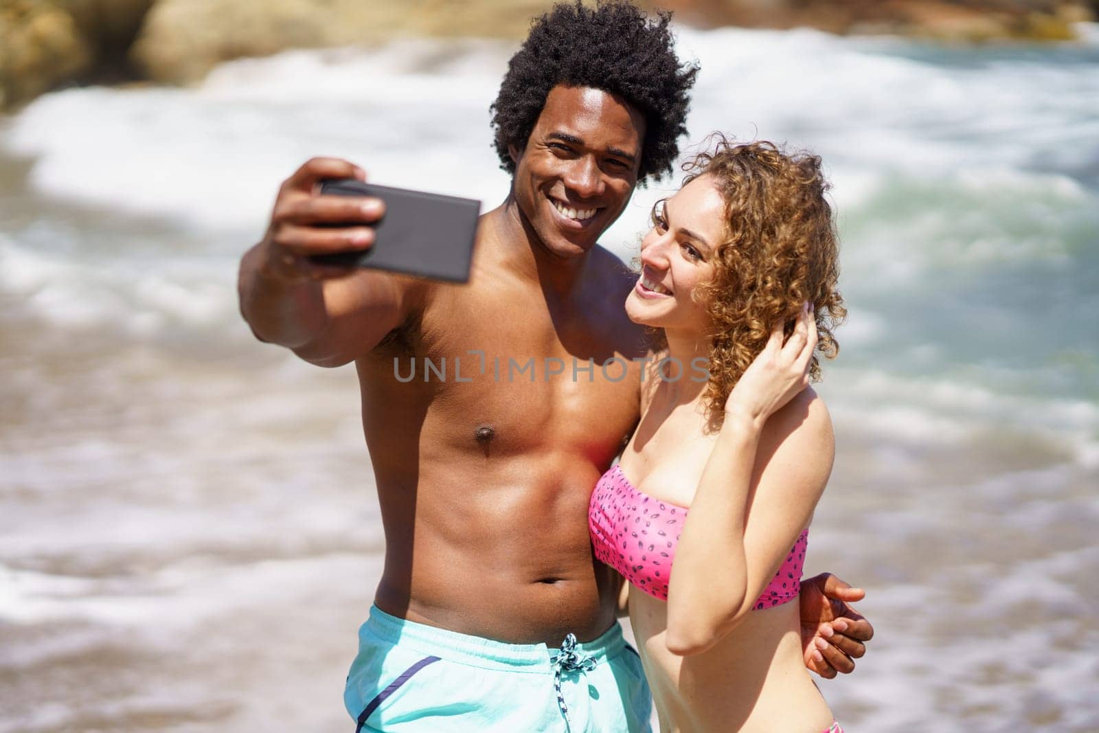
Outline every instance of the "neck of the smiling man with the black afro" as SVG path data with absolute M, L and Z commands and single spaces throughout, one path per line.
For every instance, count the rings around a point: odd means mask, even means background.
M 566 297 L 575 289 L 587 265 L 587 254 L 562 257 L 550 252 L 511 196 L 490 211 L 487 220 L 493 248 L 504 267 L 536 281 L 547 293 Z

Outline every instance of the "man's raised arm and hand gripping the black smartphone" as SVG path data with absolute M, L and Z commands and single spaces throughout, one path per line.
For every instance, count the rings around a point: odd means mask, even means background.
M 362 168 L 312 158 L 282 182 L 267 233 L 241 260 L 241 313 L 260 341 L 320 366 L 340 366 L 374 348 L 408 314 L 411 278 L 317 265 L 312 255 L 366 249 L 385 213 L 377 199 L 320 196 L 325 178 L 364 180 Z M 354 225 L 336 226 L 336 224 Z

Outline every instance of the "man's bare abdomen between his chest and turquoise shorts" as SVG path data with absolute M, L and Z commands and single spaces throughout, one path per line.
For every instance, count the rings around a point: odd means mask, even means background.
M 455 455 L 431 460 L 414 486 L 376 473 L 387 613 L 514 644 L 595 638 L 614 621 L 617 579 L 588 538 L 600 473 L 590 460 Z

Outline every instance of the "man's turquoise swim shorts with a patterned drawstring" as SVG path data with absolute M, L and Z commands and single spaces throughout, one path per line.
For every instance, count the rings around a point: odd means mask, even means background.
M 615 623 L 562 648 L 506 644 L 389 615 L 358 631 L 344 703 L 356 733 L 648 732 L 641 659 Z

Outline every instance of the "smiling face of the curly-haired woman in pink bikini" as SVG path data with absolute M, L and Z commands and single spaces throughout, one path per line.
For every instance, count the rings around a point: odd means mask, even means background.
M 654 226 L 641 243 L 641 277 L 625 299 L 630 320 L 702 332 L 710 318 L 691 297 L 713 275 L 724 240 L 725 202 L 711 176 L 699 176 L 657 204 Z

